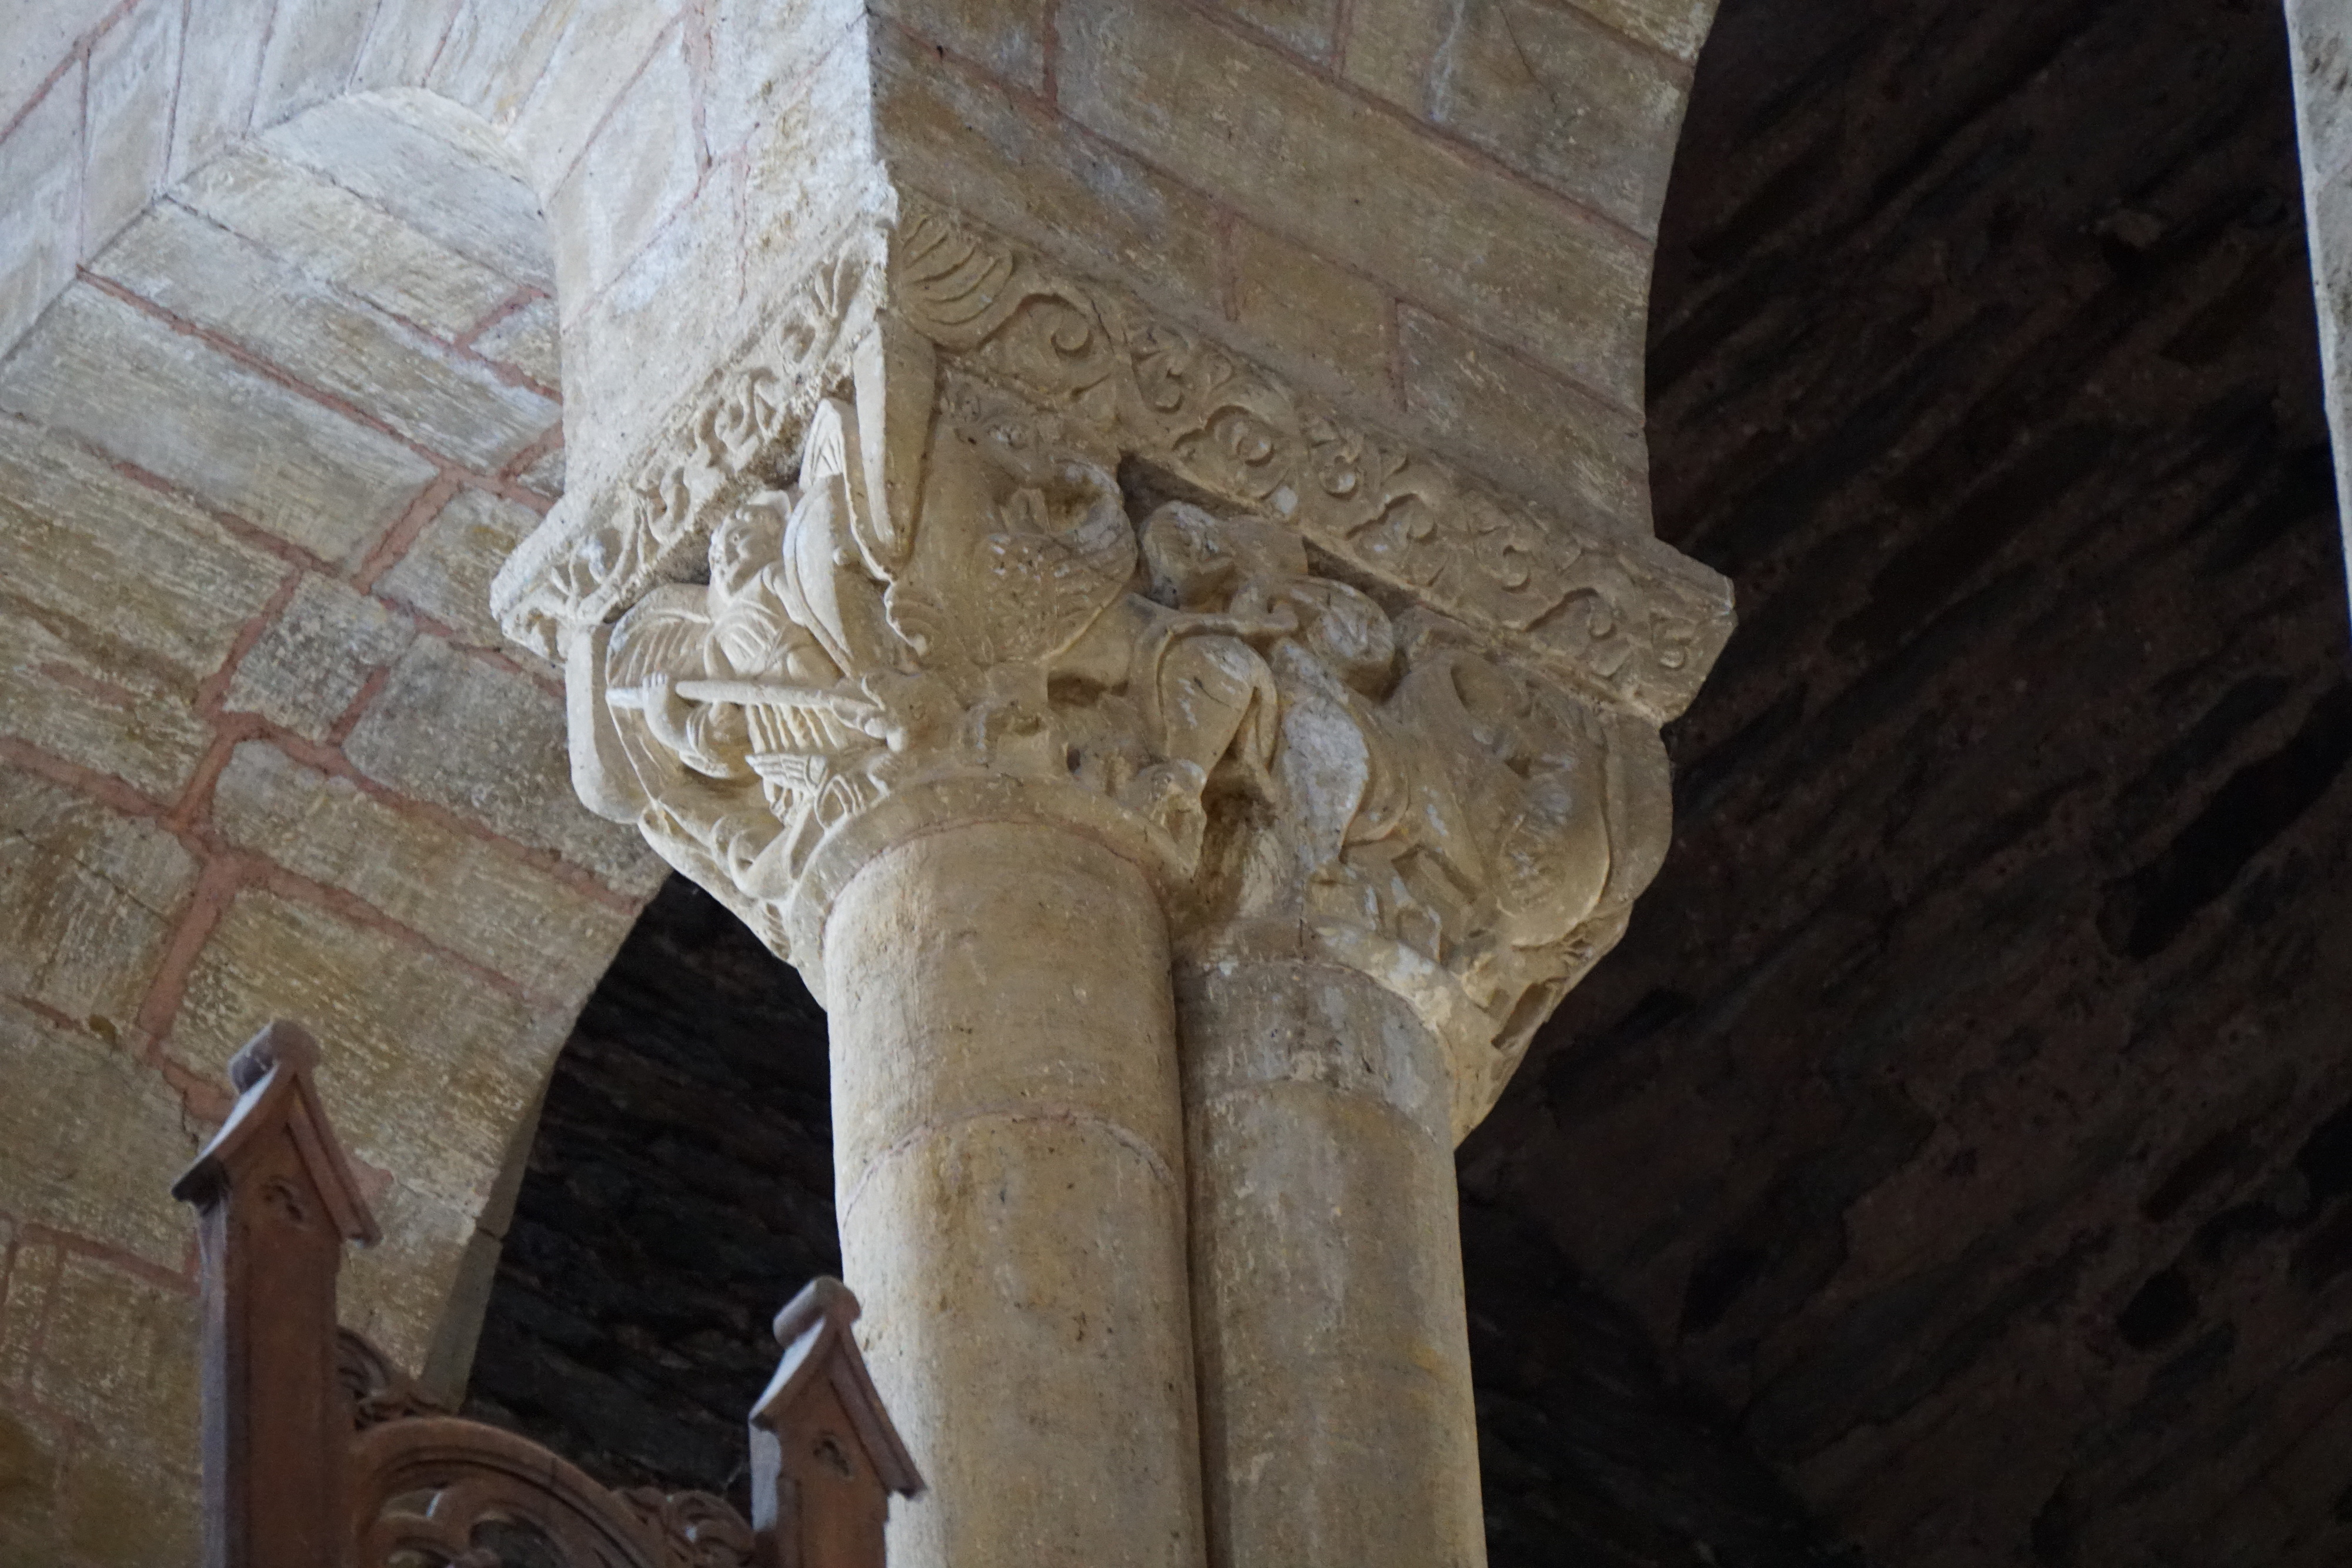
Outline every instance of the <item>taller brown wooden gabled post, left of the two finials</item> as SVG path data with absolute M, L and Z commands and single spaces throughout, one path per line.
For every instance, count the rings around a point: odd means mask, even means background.
M 318 1044 L 273 1023 L 228 1063 L 240 1098 L 172 1197 L 205 1269 L 205 1568 L 343 1556 L 348 1394 L 334 1375 L 346 1241 L 374 1241 L 318 1103 Z

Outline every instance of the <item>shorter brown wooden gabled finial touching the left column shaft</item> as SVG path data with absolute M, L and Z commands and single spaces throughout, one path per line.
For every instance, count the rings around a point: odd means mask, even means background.
M 882 1568 L 891 1495 L 922 1476 L 849 1331 L 858 1298 L 814 1279 L 776 1314 L 783 1363 L 750 1410 L 753 1530 L 764 1568 Z

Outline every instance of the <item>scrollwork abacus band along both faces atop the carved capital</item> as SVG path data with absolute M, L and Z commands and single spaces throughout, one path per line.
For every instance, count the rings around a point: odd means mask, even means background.
M 1729 583 L 1672 548 L 1543 517 L 913 197 L 894 228 L 851 233 L 623 482 L 567 498 L 517 550 L 496 590 L 508 632 L 555 656 L 569 628 L 694 576 L 720 510 L 755 475 L 793 468 L 816 400 L 849 378 L 877 317 L 927 339 L 946 374 L 1028 404 L 1049 440 L 1143 458 L 1284 522 L 1367 585 L 1651 722 L 1689 705 L 1731 632 Z

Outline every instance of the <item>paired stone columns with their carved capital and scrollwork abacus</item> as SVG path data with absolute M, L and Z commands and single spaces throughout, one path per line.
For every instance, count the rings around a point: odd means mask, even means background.
M 903 190 L 583 473 L 499 614 L 830 1009 L 891 1561 L 1479 1563 L 1451 1147 L 1724 583 Z

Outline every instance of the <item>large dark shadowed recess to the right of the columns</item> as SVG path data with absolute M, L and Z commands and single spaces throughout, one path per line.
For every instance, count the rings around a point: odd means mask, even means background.
M 1738 583 L 1465 1147 L 1884 1568 L 2352 1563 L 2352 682 L 2270 0 L 1726 0 L 1651 315 Z

